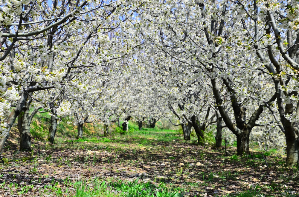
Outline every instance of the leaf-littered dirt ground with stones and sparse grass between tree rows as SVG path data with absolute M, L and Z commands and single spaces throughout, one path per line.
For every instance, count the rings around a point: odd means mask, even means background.
M 58 183 L 55 187 L 60 188 L 61 195 L 68 196 L 75 193 L 68 181 L 94 178 L 163 182 L 183 189 L 184 196 L 233 196 L 250 189 L 260 190 L 264 196 L 299 194 L 298 171 L 284 168 L 282 156 L 265 154 L 265 162 L 259 152 L 236 156 L 235 147 L 228 147 L 225 156 L 224 149 L 179 139 L 120 138 L 56 145 L 33 141 L 32 152 L 19 152 L 16 141 L 10 140 L 10 148 L 2 154 L 0 195 L 40 196 L 48 185 Z M 145 143 L 138 143 L 139 139 Z

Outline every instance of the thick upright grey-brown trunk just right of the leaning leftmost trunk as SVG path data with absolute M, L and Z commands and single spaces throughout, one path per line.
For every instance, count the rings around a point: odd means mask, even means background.
M 20 151 L 31 151 L 31 134 L 29 109 L 25 108 L 18 116 L 18 129 L 20 132 Z

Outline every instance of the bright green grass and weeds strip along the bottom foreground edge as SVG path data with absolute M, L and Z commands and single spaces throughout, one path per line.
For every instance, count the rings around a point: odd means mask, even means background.
M 54 180 L 54 179 L 53 179 Z M 182 197 L 184 190 L 180 187 L 169 187 L 163 182 L 151 184 L 140 182 L 136 179 L 133 182 L 121 181 L 116 179 L 100 180 L 98 178 L 88 180 L 77 180 L 71 182 L 68 178 L 63 180 L 64 186 L 58 182 L 51 181 L 44 187 L 36 188 L 33 185 L 22 187 L 19 184 L 1 183 L 0 189 L 7 192 L 17 190 L 19 196 L 26 195 L 34 190 L 39 196 L 65 196 L 65 197 Z

